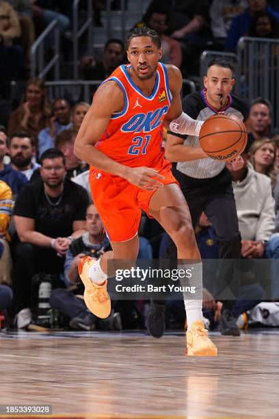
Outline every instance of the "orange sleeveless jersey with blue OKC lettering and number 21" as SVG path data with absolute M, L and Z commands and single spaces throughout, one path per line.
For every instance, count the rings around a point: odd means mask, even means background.
M 124 109 L 113 114 L 95 147 L 108 157 L 130 167 L 152 167 L 163 158 L 163 118 L 172 101 L 168 73 L 159 62 L 155 86 L 146 96 L 135 86 L 122 64 L 103 83 L 114 80 L 122 89 Z

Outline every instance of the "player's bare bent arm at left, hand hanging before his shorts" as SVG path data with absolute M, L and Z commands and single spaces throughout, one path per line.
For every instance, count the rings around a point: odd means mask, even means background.
M 115 81 L 102 84 L 94 94 L 92 105 L 83 118 L 75 140 L 75 154 L 84 162 L 104 172 L 127 179 L 135 186 L 155 190 L 162 186 L 161 175 L 147 167 L 130 168 L 120 164 L 94 147 L 103 135 L 111 115 L 124 107 L 122 90 Z

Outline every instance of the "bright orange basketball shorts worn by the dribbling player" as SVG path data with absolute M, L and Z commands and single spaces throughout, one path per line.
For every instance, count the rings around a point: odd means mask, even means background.
M 172 165 L 161 159 L 155 169 L 163 175 L 162 183 L 178 183 L 171 172 Z M 109 240 L 124 242 L 135 236 L 139 228 L 141 210 L 148 214 L 149 201 L 156 192 L 144 190 L 116 175 L 93 169 L 89 176 L 92 199 Z M 150 217 L 152 218 L 152 217 Z

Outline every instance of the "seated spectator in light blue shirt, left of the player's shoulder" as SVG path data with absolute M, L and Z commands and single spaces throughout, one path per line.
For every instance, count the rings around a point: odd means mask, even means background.
M 57 98 L 53 103 L 53 116 L 50 126 L 42 129 L 38 134 L 38 157 L 47 149 L 54 147 L 55 136 L 63 129 L 72 126 L 70 122 L 70 103 L 66 99 Z

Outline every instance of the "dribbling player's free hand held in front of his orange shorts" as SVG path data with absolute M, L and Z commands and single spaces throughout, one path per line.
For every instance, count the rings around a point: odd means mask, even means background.
M 161 180 L 163 176 L 159 175 L 158 170 L 149 167 L 130 167 L 127 170 L 125 179 L 144 190 L 157 190 L 163 186 Z

